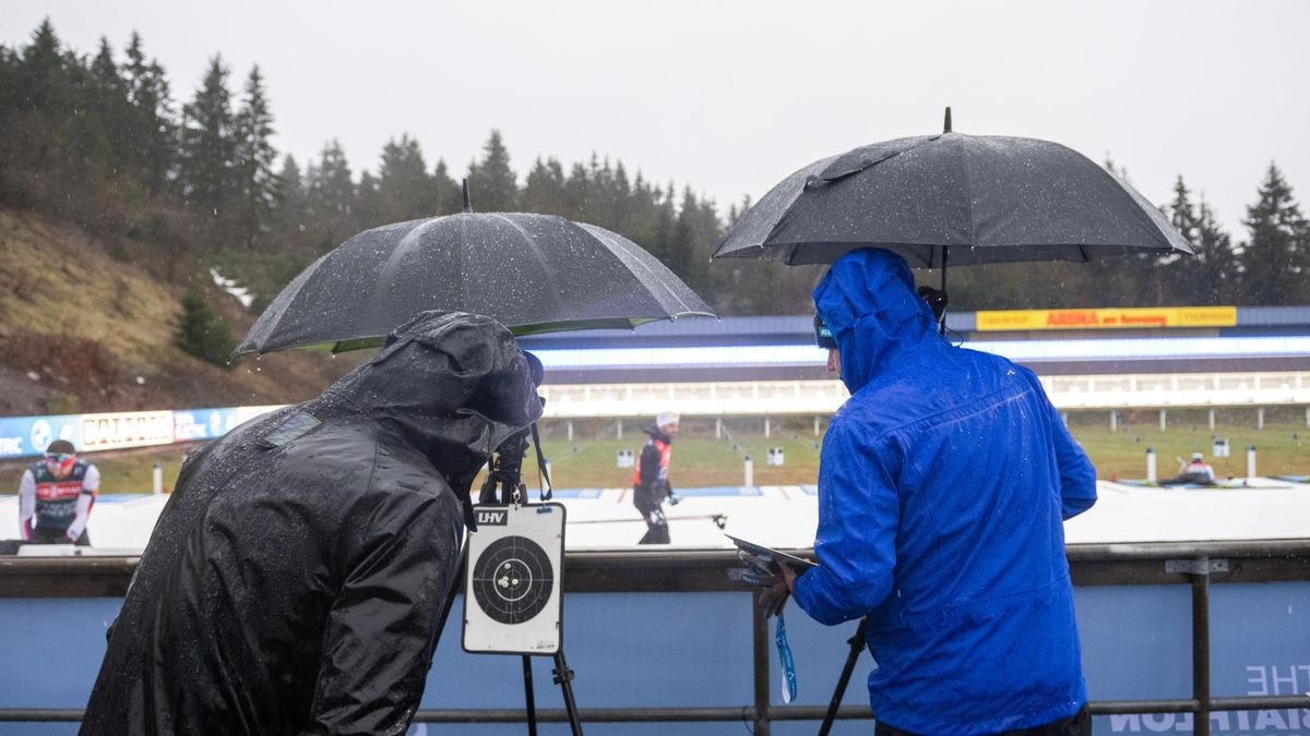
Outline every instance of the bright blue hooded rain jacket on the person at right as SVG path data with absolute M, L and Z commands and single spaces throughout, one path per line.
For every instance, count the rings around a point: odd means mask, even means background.
M 1062 519 L 1095 470 L 1036 376 L 941 339 L 905 261 L 862 249 L 814 292 L 852 397 L 819 468 L 820 566 L 796 602 L 869 617 L 874 715 L 996 733 L 1086 702 Z

